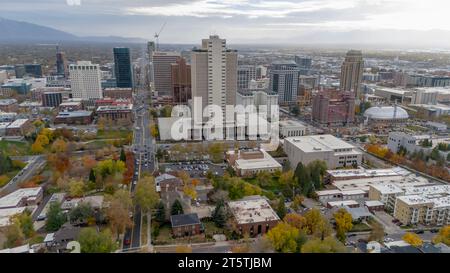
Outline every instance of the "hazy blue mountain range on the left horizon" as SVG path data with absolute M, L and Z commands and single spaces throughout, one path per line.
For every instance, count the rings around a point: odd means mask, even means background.
M 119 36 L 76 36 L 54 28 L 0 17 L 0 42 L 71 42 L 143 43 L 144 39 Z

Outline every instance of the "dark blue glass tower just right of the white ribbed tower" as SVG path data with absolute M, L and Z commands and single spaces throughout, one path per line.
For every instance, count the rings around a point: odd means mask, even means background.
M 132 88 L 133 75 L 131 72 L 130 49 L 126 47 L 115 47 L 114 52 L 114 72 L 117 87 Z

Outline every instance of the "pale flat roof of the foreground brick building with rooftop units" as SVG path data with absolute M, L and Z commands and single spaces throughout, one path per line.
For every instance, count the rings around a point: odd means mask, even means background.
M 267 200 L 261 196 L 250 196 L 239 201 L 230 201 L 228 207 L 238 224 L 280 220 Z

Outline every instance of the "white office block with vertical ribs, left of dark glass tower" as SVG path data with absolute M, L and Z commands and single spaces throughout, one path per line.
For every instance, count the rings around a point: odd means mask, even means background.
M 72 97 L 84 100 L 102 98 L 101 75 L 98 64 L 89 61 L 77 62 L 69 66 Z

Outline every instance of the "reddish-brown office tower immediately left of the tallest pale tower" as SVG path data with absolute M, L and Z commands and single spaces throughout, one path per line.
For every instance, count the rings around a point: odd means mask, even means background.
M 191 66 L 181 57 L 170 68 L 173 102 L 186 104 L 191 99 Z

